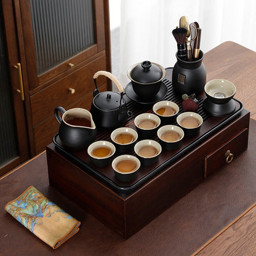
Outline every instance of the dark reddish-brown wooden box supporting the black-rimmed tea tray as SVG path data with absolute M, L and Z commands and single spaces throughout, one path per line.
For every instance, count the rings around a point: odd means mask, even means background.
M 49 182 L 127 239 L 227 164 L 226 151 L 236 158 L 246 150 L 249 118 L 250 113 L 242 110 L 236 119 L 127 194 L 112 190 L 79 168 L 52 143 L 46 149 Z

